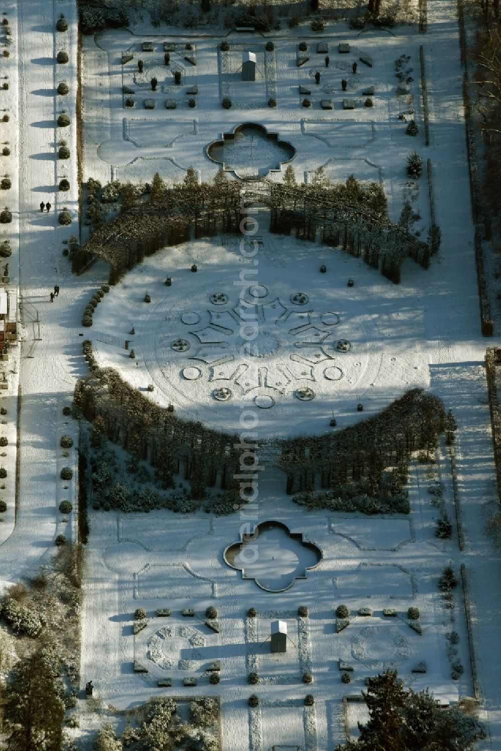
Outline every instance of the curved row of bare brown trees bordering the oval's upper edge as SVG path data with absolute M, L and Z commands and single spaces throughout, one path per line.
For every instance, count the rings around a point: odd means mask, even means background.
M 219 170 L 213 182 L 198 182 L 192 167 L 182 183 L 167 187 L 158 173 L 140 195 L 131 183 L 115 185 L 113 195 L 120 196 L 119 216 L 101 225 L 104 194 L 87 185 L 95 221 L 95 231 L 74 255 L 73 270 L 80 273 L 92 257 L 110 264 L 110 282 L 116 283 L 126 270 L 156 252 L 165 244 L 175 245 L 195 237 L 207 237 L 218 230 L 237 233 L 246 210 L 264 202 L 270 207 L 270 231 L 290 234 L 291 229 L 305 240 L 315 240 L 318 232 L 325 243 L 342 246 L 352 255 L 363 255 L 371 266 L 381 267 L 393 282 L 400 281 L 405 258 L 413 258 L 423 267 L 430 260 L 430 244 L 410 233 L 409 222 L 393 224 L 388 220 L 385 194 L 381 185 L 364 185 L 355 176 L 346 183 L 333 184 L 322 168 L 311 182 L 297 184 L 291 165 L 284 182 L 260 180 L 246 182 L 245 202 L 242 183 L 229 180 Z M 107 186 L 108 193 L 110 186 Z M 97 195 L 96 195 L 97 194 Z M 139 203 L 138 203 L 139 198 Z

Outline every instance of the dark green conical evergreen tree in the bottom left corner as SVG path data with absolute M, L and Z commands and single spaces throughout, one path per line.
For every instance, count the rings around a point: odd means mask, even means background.
M 62 685 L 38 653 L 15 668 L 3 710 L 9 751 L 60 751 L 65 714 Z

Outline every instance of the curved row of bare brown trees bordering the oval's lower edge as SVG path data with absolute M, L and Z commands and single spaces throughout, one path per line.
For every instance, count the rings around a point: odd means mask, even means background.
M 204 487 L 216 482 L 234 487 L 241 454 L 236 435 L 178 418 L 137 392 L 116 370 L 98 368 L 91 342 L 84 342 L 84 351 L 92 370 L 77 382 L 74 401 L 94 422 L 93 440 L 105 432 L 137 459 L 149 460 L 166 484 L 183 467 L 194 497 L 204 497 Z M 337 433 L 277 442 L 278 466 L 285 472 L 288 493 L 310 490 L 317 476 L 324 488 L 368 478 L 377 495 L 385 468 L 401 466 L 405 474 L 410 453 L 434 448 L 444 427 L 442 402 L 414 389 L 379 415 Z

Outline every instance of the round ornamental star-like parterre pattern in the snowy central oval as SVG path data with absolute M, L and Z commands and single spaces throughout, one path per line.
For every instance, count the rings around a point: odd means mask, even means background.
M 337 312 L 315 311 L 307 294 L 282 300 L 252 285 L 236 304 L 225 292 L 208 295 L 207 303 L 205 311 L 184 312 L 172 322 L 168 349 L 179 379 L 208 379 L 214 400 L 243 394 L 269 409 L 280 395 L 312 400 L 315 382 L 343 378 L 343 353 L 352 344 L 337 336 Z

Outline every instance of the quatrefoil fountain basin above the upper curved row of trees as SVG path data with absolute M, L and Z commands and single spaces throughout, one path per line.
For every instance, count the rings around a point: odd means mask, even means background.
M 296 155 L 296 149 L 278 133 L 271 133 L 258 122 L 243 122 L 222 140 L 207 146 L 207 156 L 234 172 L 241 179 L 258 179 L 269 172 L 279 172 Z

